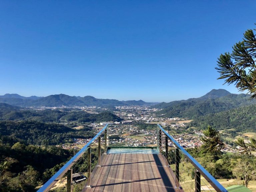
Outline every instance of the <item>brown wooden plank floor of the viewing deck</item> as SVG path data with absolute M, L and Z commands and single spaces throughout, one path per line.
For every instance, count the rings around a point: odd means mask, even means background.
M 158 154 L 105 154 L 102 166 L 92 172 L 91 187 L 83 192 L 182 192 L 175 189 L 174 174 Z

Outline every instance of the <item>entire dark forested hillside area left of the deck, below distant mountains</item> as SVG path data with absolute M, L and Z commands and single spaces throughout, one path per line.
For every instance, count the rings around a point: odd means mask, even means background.
M 121 120 L 108 111 L 33 110 L 0 103 L 0 191 L 36 191 L 77 152 L 55 145 L 92 138 L 90 122 Z M 77 123 L 83 128 L 73 129 Z

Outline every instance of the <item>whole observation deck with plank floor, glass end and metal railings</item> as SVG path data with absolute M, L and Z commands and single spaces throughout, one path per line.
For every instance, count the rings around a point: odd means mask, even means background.
M 45 191 L 227 192 L 158 124 L 106 125 Z

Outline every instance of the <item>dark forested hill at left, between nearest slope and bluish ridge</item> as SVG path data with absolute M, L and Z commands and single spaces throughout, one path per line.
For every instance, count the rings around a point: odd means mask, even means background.
M 72 143 L 73 138 L 92 138 L 90 128 L 74 130 L 55 123 L 37 121 L 0 121 L 0 143 L 16 142 L 34 145 L 58 145 Z

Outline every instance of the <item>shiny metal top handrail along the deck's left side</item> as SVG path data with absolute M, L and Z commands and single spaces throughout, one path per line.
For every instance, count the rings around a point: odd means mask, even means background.
M 67 171 L 70 169 L 73 164 L 85 153 L 89 145 L 102 134 L 102 132 L 107 128 L 108 124 L 97 134 L 95 135 L 80 151 L 78 151 L 61 169 L 55 173 L 37 192 L 49 191 L 54 184 L 59 180 Z

